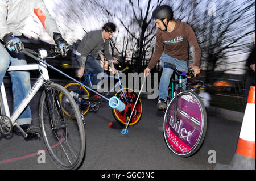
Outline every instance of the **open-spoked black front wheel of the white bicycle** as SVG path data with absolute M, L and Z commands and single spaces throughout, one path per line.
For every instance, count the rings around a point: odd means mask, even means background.
M 80 112 L 64 87 L 51 83 L 45 89 L 39 107 L 44 144 L 57 165 L 63 169 L 76 169 L 85 155 L 85 131 Z

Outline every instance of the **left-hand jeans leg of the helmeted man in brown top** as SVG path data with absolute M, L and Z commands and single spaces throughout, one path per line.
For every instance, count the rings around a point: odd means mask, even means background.
M 172 77 L 172 73 L 174 73 L 174 70 L 170 68 L 164 68 L 164 62 L 168 62 L 170 64 L 174 64 L 175 58 L 172 58 L 171 56 L 168 56 L 167 54 L 162 54 L 161 56 L 161 65 L 163 68 L 163 72 L 160 78 L 160 84 L 159 84 L 159 90 L 158 90 L 158 100 L 164 99 L 167 100 L 168 96 L 168 86 L 170 83 L 170 79 Z

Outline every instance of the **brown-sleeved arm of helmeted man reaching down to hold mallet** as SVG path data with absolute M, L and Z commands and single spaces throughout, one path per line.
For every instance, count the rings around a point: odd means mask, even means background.
M 163 53 L 164 43 L 161 39 L 160 32 L 161 32 L 160 29 L 158 29 L 158 31 L 156 32 L 155 50 L 150 62 L 147 65 L 147 68 L 144 70 L 144 76 L 147 76 L 150 73 L 151 69 L 156 66 L 156 64 L 158 63 L 158 60 L 160 59 Z

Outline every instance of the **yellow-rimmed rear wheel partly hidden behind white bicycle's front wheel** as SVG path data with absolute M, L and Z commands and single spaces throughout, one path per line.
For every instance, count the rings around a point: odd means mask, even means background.
M 84 116 L 90 108 L 90 102 L 86 99 L 89 98 L 89 92 L 84 86 L 80 86 L 79 83 L 68 83 L 65 87 L 69 94 L 75 99 L 76 104 L 79 107 L 81 116 Z M 60 100 L 63 100 L 62 94 Z M 71 116 L 67 110 L 63 110 L 65 114 Z

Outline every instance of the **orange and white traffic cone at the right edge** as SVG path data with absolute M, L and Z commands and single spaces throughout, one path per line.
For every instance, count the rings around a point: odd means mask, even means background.
M 229 165 L 216 164 L 214 169 L 255 170 L 255 86 L 249 91 L 236 153 Z

